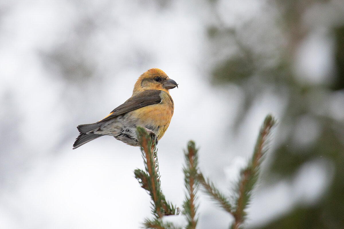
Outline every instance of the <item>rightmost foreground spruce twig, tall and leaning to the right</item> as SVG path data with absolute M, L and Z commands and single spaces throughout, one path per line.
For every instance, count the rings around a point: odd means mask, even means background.
M 236 198 L 236 208 L 233 212 L 235 219 L 234 224 L 231 227 L 233 229 L 239 229 L 245 219 L 245 208 L 251 199 L 252 190 L 258 180 L 260 164 L 266 152 L 266 143 L 270 134 L 270 130 L 275 123 L 276 121 L 271 115 L 268 115 L 265 118 L 264 123 L 259 131 L 253 156 L 247 167 L 241 170 L 237 185 L 238 196 Z

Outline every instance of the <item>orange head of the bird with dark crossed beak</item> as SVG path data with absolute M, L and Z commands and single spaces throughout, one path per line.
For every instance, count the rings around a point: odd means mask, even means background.
M 178 84 L 170 79 L 165 72 L 152 68 L 144 72 L 134 85 L 133 94 L 144 90 L 160 90 L 169 92 L 169 89 L 178 88 Z

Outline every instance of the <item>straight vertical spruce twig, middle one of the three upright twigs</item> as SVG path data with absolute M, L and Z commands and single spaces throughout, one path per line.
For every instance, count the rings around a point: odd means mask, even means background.
M 197 149 L 195 148 L 195 142 L 189 141 L 187 144 L 187 151 L 185 153 L 185 166 L 183 168 L 184 172 L 184 182 L 186 187 L 186 196 L 183 203 L 184 215 L 187 218 L 188 225 L 187 229 L 195 229 L 197 224 L 195 205 L 196 193 L 197 193 L 197 176 L 198 176 L 198 156 Z

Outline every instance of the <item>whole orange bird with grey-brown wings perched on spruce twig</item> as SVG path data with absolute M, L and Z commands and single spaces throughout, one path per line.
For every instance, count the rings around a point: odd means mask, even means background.
M 158 144 L 173 116 L 174 103 L 169 89 L 175 87 L 178 88 L 178 84 L 161 69 L 147 70 L 137 79 L 127 101 L 100 121 L 77 126 L 79 136 L 73 149 L 104 135 L 113 136 L 130 146 L 139 146 L 138 126 L 145 128 Z

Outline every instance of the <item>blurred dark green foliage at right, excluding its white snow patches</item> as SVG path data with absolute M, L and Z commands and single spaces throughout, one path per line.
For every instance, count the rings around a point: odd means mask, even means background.
M 288 127 L 289 131 L 285 130 L 283 139 L 273 152 L 273 161 L 264 174 L 267 185 L 278 179 L 293 179 L 293 175 L 305 163 L 314 160 L 328 161 L 332 167 L 330 168 L 332 173 L 329 172 L 329 174 L 333 175 L 328 178 L 330 184 L 316 203 L 297 204 L 288 213 L 279 216 L 267 225 L 254 228 L 344 228 L 344 123 L 343 120 L 336 119 L 329 113 L 318 112 L 316 108 L 321 107 L 326 101 L 331 102 L 333 98 L 331 96 L 344 88 L 344 16 L 341 20 L 326 24 L 326 29 L 334 41 L 334 71 L 328 72 L 328 80 L 324 83 L 304 82 L 298 80 L 299 76 L 293 71 L 293 65 L 299 45 L 316 29 L 316 26 L 307 27 L 304 22 L 305 14 L 314 7 L 331 8 L 329 4 L 333 2 L 310 0 L 269 1 L 269 3 L 280 13 L 276 25 L 285 35 L 286 42 L 280 45 L 274 41 L 275 38 L 269 35 L 273 33 L 271 27 L 262 27 L 261 30 L 265 30 L 266 33 L 257 34 L 261 36 L 261 39 L 256 39 L 256 43 L 252 45 L 242 37 L 240 38 L 239 32 L 233 28 L 226 28 L 221 23 L 210 26 L 207 32 L 215 53 L 214 58 L 222 51 L 221 45 L 225 43 L 224 40 L 230 41 L 233 49 L 238 50 L 234 54 L 222 55 L 223 57 L 216 61 L 217 64 L 212 69 L 212 82 L 214 85 L 232 83 L 243 89 L 246 93 L 246 106 L 242 114 L 248 111 L 253 99 L 264 91 L 264 87 L 288 92 L 287 109 L 283 116 L 279 117 L 279 123 L 282 126 L 281 129 Z M 338 4 L 343 7 L 344 2 Z M 244 31 L 241 31 L 241 34 L 248 33 L 247 36 L 254 36 L 255 34 L 249 29 L 250 24 L 254 23 L 252 20 L 241 27 L 240 29 Z M 269 55 L 264 53 L 271 48 L 267 45 L 269 43 L 275 44 L 274 48 L 279 51 L 272 64 L 264 65 L 262 63 L 271 62 Z M 253 82 L 262 82 L 266 86 L 260 84 L 252 86 Z M 319 133 L 313 143 L 308 146 L 302 146 L 295 141 L 295 131 L 300 128 L 298 121 L 304 117 L 316 123 Z M 240 125 L 242 120 L 238 118 L 237 125 Z

